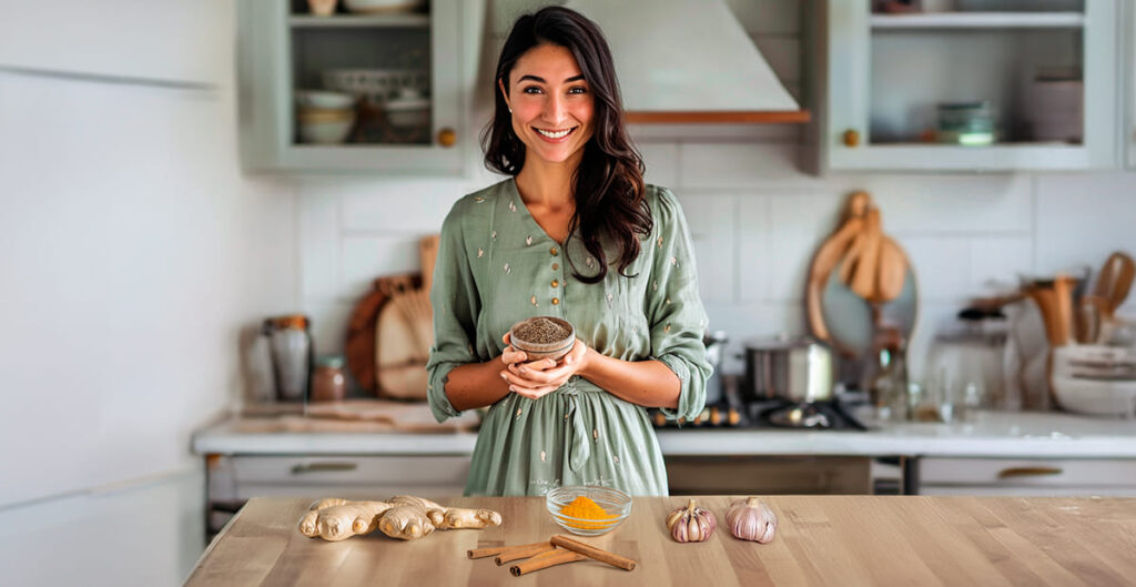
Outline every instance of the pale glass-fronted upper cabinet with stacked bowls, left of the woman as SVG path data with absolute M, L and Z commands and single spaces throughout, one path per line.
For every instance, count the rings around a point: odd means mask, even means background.
M 316 14 L 331 5 L 331 14 Z M 460 0 L 242 0 L 245 167 L 461 175 L 469 42 Z M 314 8 L 315 7 L 315 8 Z

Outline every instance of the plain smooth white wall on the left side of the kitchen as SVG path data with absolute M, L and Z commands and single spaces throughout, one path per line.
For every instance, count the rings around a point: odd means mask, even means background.
M 294 187 L 242 176 L 234 3 L 47 0 L 0 18 L 0 569 L 179 585 L 190 434 L 237 332 L 298 302 Z

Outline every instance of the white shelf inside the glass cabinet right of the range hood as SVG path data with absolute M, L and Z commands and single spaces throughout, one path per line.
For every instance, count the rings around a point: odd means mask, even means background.
M 871 28 L 1083 28 L 1080 12 L 933 12 L 911 15 L 872 15 Z

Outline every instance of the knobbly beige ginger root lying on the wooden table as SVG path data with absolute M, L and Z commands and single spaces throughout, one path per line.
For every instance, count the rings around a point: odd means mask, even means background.
M 352 502 L 337 497 L 319 500 L 300 519 L 300 534 L 325 540 L 343 540 L 370 534 L 375 528 L 391 538 L 411 540 L 434 530 L 501 526 L 493 510 L 445 508 L 429 500 L 400 495 L 385 502 Z

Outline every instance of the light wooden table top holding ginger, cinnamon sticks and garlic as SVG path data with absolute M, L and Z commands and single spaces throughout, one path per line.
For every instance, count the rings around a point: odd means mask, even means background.
M 636 497 L 623 526 L 578 538 L 634 559 L 634 571 L 587 560 L 513 577 L 508 564 L 466 551 L 566 534 L 542 497 L 441 502 L 494 509 L 504 519 L 498 528 L 409 542 L 376 530 L 339 543 L 296 529 L 311 500 L 256 498 L 187 585 L 1136 585 L 1136 498 L 770 496 L 762 500 L 780 523 L 765 545 L 729 535 L 729 497 L 698 500 L 718 517 L 709 542 L 679 544 L 666 531 L 666 513 L 686 497 Z

